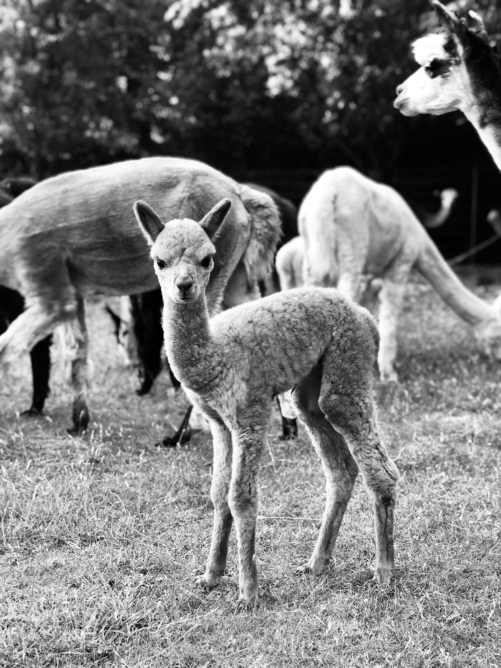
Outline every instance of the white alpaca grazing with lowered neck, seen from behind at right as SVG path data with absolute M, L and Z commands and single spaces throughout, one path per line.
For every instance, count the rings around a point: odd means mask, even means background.
M 381 279 L 377 363 L 384 381 L 396 381 L 397 324 L 405 283 L 417 269 L 467 323 L 487 353 L 501 359 L 501 312 L 468 290 L 413 214 L 389 186 L 351 167 L 323 172 L 299 208 L 305 285 L 337 285 L 360 302 L 365 275 Z M 301 242 L 294 242 L 296 251 Z M 281 277 L 285 246 L 277 253 Z M 299 263 L 298 259 L 295 260 Z M 295 270 L 297 273 L 297 269 Z M 287 286 L 290 287 L 290 286 Z

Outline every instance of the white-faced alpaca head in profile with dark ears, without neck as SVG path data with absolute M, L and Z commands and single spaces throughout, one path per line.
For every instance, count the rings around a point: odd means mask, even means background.
M 459 18 L 437 0 L 430 4 L 442 29 L 413 43 L 420 69 L 397 86 L 393 106 L 404 116 L 465 111 L 476 98 L 476 81 L 486 64 L 497 69 L 487 32 L 474 11 Z M 478 67 L 476 67 L 478 65 Z M 489 68 L 488 68 L 489 69 Z

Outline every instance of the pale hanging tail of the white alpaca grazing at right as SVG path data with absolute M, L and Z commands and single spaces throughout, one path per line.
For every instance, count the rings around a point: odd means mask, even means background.
M 311 196 L 310 196 L 311 195 Z M 305 240 L 303 277 L 307 285 L 336 285 L 337 194 L 310 191 L 299 209 L 299 233 Z

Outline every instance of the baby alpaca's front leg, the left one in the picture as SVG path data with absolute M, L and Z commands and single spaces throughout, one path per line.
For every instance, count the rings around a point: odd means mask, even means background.
M 228 492 L 231 480 L 232 441 L 231 434 L 224 424 L 210 420 L 214 445 L 214 462 L 210 498 L 214 505 L 214 525 L 212 541 L 203 575 L 197 578 L 202 587 L 216 587 L 219 584 L 228 554 L 228 540 L 232 525 L 232 516 L 228 506 Z

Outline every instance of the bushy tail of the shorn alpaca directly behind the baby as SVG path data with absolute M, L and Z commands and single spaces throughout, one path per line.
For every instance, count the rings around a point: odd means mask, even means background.
M 265 192 L 240 186 L 240 199 L 251 222 L 251 237 L 243 261 L 249 282 L 264 281 L 273 267 L 282 236 L 279 210 Z

